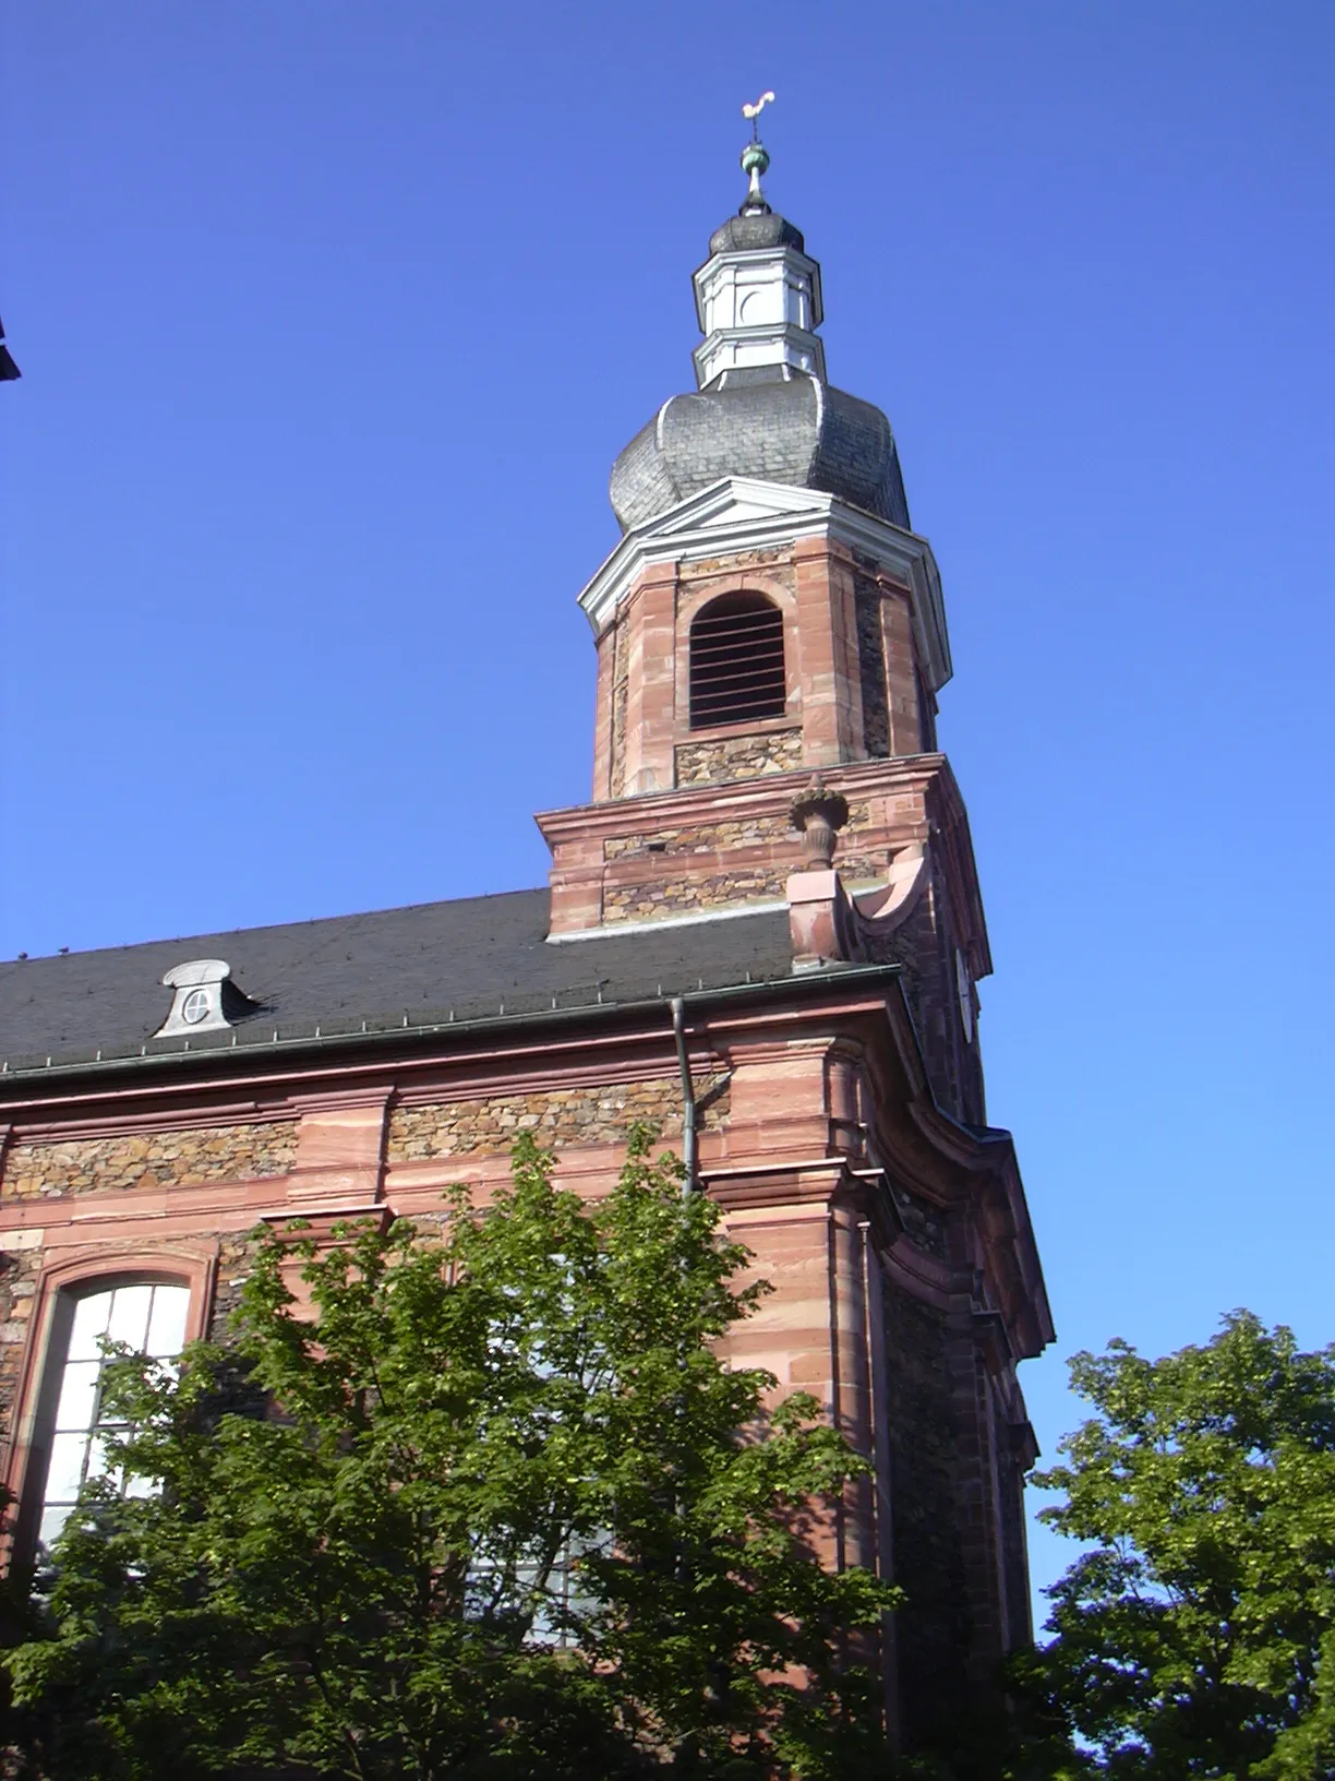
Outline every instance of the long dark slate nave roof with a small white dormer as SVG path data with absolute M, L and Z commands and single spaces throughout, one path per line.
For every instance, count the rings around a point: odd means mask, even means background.
M 279 928 L 192 935 L 0 964 L 0 1069 L 164 1056 L 153 1040 L 171 1008 L 162 974 L 224 958 L 258 1006 L 231 1031 L 199 1033 L 190 1051 L 420 1029 L 449 1021 L 607 1008 L 789 978 L 787 910 L 666 924 L 584 940 L 546 940 L 548 892 L 418 903 L 413 908 Z M 4 1078 L 0 1078 L 0 1083 Z

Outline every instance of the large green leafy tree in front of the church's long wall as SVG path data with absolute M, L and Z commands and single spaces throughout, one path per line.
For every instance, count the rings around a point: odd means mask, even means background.
M 130 1494 L 7 1655 L 32 1772 L 874 1774 L 894 1590 L 812 1555 L 844 1439 L 716 1354 L 744 1265 L 644 1133 L 593 1208 L 523 1142 L 429 1232 L 258 1234 L 230 1345 L 112 1370 Z

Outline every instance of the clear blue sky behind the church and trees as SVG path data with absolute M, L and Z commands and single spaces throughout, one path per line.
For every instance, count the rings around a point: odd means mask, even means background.
M 945 579 L 1043 1446 L 1079 1346 L 1335 1338 L 1333 66 L 1324 0 L 7 0 L 0 956 L 543 880 L 774 87 Z

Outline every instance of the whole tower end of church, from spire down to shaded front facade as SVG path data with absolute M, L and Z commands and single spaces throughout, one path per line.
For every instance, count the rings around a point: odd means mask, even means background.
M 828 379 L 821 267 L 767 203 L 767 166 L 753 141 L 746 199 L 694 272 L 696 388 L 612 467 L 623 538 L 580 595 L 593 798 L 538 817 L 550 942 L 657 935 L 689 964 L 787 921 L 794 987 L 878 987 L 895 1061 L 853 1001 L 724 1031 L 696 997 L 692 1061 L 730 1101 L 687 1145 L 774 1284 L 746 1359 L 813 1389 L 872 1457 L 833 1562 L 906 1590 L 886 1720 L 942 1749 L 1031 1639 L 1016 1364 L 1052 1325 L 1015 1151 L 986 1126 L 991 956 L 936 748 L 940 575 L 890 422 Z

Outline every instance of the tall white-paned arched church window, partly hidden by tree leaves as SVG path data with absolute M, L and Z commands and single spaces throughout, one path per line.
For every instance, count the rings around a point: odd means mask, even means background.
M 39 1411 L 50 1443 L 37 1517 L 43 1546 L 50 1548 L 69 1519 L 82 1485 L 105 1476 L 107 1437 L 123 1432 L 101 1403 L 103 1339 L 173 1361 L 185 1346 L 189 1309 L 190 1288 L 178 1281 L 100 1281 L 87 1291 L 69 1288 L 59 1295 Z

